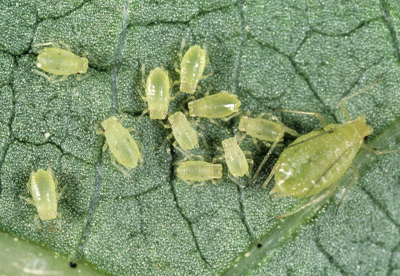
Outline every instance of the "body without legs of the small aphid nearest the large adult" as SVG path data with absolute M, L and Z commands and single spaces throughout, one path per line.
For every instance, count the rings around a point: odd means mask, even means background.
M 251 137 L 269 142 L 274 142 L 282 130 L 282 127 L 278 123 L 247 116 L 240 118 L 238 128 Z M 282 140 L 283 139 L 280 139 L 279 141 Z

